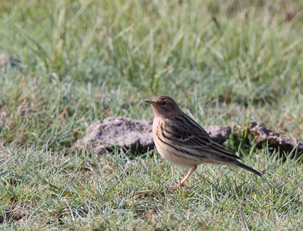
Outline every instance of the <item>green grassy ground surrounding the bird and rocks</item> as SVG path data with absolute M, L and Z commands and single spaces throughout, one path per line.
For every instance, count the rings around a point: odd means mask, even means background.
M 2 1 L 0 54 L 21 66 L 0 72 L 0 210 L 30 214 L 1 219 L 2 229 L 302 230 L 300 159 L 281 162 L 253 141 L 225 146 L 265 179 L 203 165 L 193 187 L 176 192 L 164 186 L 186 171 L 156 151 L 71 152 L 98 119 L 151 120 L 143 101 L 160 94 L 201 125 L 255 119 L 303 141 L 302 9 L 301 1 Z

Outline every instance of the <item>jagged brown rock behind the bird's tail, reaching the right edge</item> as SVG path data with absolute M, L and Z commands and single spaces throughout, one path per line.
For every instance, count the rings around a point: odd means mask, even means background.
M 245 131 L 245 126 L 234 126 L 232 129 L 232 134 L 234 137 L 241 137 Z M 259 122 L 250 121 L 248 124 L 247 130 L 247 139 L 256 139 L 256 147 L 261 149 L 264 143 L 268 142 L 268 147 L 274 148 L 277 152 L 279 150 L 280 154 L 289 153 L 296 146 L 298 148 L 298 152 L 303 152 L 303 144 L 298 139 L 292 139 L 289 137 L 282 136 L 277 132 L 273 132 L 269 128 L 265 128 Z

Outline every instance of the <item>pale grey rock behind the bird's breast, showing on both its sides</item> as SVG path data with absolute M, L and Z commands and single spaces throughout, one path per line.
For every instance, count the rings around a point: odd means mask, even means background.
M 231 128 L 228 126 L 205 127 L 211 138 L 218 143 L 228 139 Z M 99 154 L 111 152 L 113 146 L 125 147 L 131 152 L 147 152 L 154 149 L 152 122 L 125 117 L 108 117 L 103 121 L 92 123 L 82 139 L 78 139 L 74 149 L 90 150 Z

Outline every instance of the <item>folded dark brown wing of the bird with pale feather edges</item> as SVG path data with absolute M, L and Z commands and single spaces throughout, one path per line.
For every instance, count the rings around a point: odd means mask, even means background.
M 180 116 L 180 115 L 179 115 Z M 170 120 L 165 126 L 165 136 L 174 140 L 181 149 L 194 149 L 195 155 L 201 152 L 216 156 L 226 156 L 234 159 L 242 159 L 228 152 L 224 147 L 211 139 L 208 133 L 193 119 L 182 113 L 181 117 Z

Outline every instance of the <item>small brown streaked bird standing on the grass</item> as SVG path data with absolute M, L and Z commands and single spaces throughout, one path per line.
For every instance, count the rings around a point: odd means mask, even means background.
M 241 157 L 213 141 L 197 122 L 181 111 L 171 97 L 160 95 L 145 102 L 151 104 L 154 110 L 152 133 L 160 155 L 181 168 L 191 168 L 178 186 L 184 186 L 184 182 L 202 163 L 236 166 L 262 176 L 262 173 L 238 161 Z

